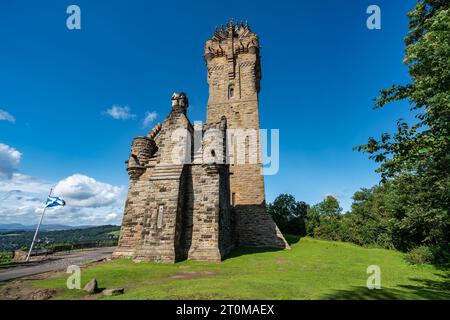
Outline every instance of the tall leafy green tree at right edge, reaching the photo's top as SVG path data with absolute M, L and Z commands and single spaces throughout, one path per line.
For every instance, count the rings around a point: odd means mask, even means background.
M 375 108 L 407 100 L 416 121 L 355 149 L 380 163 L 382 182 L 403 199 L 393 207 L 396 247 L 450 252 L 450 2 L 421 0 L 409 12 L 404 63 L 411 83 L 381 90 Z

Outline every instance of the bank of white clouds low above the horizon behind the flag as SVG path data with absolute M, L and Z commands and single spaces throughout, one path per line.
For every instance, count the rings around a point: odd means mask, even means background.
M 0 223 L 36 224 L 54 183 L 13 173 L 0 182 Z M 103 225 L 121 223 L 125 188 L 75 174 L 56 184 L 53 192 L 67 205 L 48 209 L 44 224 Z

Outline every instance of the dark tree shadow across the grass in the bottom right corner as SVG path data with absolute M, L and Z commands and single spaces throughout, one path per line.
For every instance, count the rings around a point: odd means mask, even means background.
M 336 290 L 323 297 L 327 300 L 448 300 L 450 299 L 450 274 L 437 275 L 439 280 L 411 279 L 416 284 L 399 285 L 397 289 L 369 290 L 353 287 Z

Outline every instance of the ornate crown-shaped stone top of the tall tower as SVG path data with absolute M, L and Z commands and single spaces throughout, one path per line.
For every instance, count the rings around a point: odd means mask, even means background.
M 258 35 L 251 31 L 247 22 L 236 23 L 231 19 L 225 27 L 214 29 L 214 34 L 205 44 L 205 60 L 211 61 L 216 57 L 231 58 L 241 53 L 259 55 Z

